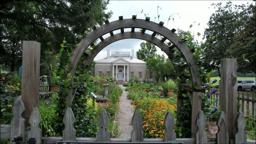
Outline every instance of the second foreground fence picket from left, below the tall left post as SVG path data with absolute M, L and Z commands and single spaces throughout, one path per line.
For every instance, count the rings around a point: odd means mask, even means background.
M 30 124 L 30 130 L 28 131 L 28 139 L 35 138 L 36 144 L 42 143 L 42 130 L 39 127 L 42 119 L 40 117 L 38 108 L 33 108 L 28 123 Z

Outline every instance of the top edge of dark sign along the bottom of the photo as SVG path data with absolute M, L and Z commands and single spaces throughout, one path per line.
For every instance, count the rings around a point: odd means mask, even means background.
M 57 141 L 57 144 L 183 144 L 183 142 L 78 142 L 78 141 Z

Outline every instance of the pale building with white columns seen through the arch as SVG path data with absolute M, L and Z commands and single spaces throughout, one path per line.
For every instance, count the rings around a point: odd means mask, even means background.
M 100 76 L 107 73 L 118 81 L 129 81 L 130 77 L 139 75 L 143 80 L 146 77 L 152 79 L 152 73 L 149 73 L 146 62 L 134 58 L 134 50 L 130 52 L 111 52 L 107 50 L 107 57 L 95 62 L 94 75 Z M 117 76 L 117 77 L 116 77 Z

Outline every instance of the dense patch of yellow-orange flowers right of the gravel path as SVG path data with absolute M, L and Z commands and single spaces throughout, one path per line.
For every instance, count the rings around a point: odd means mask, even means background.
M 164 118 L 167 111 L 174 115 L 176 104 L 170 105 L 164 100 L 144 99 L 133 104 L 140 110 L 143 118 L 144 138 L 164 138 Z

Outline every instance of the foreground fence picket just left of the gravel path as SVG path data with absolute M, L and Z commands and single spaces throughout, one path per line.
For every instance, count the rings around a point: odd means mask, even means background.
M 105 109 L 102 109 L 100 112 L 98 124 L 100 126 L 100 130 L 98 131 L 97 141 L 109 142 L 110 141 L 110 132 L 108 131 L 109 119 Z

